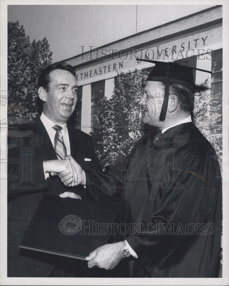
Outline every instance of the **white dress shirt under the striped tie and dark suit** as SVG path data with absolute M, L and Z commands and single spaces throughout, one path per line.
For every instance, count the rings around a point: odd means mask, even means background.
M 49 134 L 49 138 L 53 144 L 53 148 L 54 148 L 54 140 L 55 140 L 55 134 L 56 134 L 56 131 L 53 129 L 53 126 L 58 125 L 62 127 L 61 134 L 63 136 L 63 141 L 67 149 L 67 155 L 69 155 L 70 154 L 70 142 L 69 142 L 69 135 L 67 131 L 67 123 L 55 124 L 49 118 L 47 118 L 47 116 L 45 116 L 43 112 L 40 118 L 41 118 L 41 122 L 44 124 L 45 129 L 47 130 Z M 45 180 L 46 180 L 49 177 L 49 173 L 45 173 L 45 170 L 44 170 L 44 174 L 45 174 Z

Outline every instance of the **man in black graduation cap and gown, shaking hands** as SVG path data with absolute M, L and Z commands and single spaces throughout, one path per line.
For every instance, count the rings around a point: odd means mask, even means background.
M 75 184 L 98 201 L 120 202 L 116 243 L 86 258 L 88 267 L 124 277 L 217 277 L 222 186 L 211 144 L 194 126 L 192 69 L 156 63 L 144 96 L 143 122 L 159 128 L 145 134 L 113 178 L 82 170 L 71 158 Z M 66 185 L 73 179 L 59 174 Z

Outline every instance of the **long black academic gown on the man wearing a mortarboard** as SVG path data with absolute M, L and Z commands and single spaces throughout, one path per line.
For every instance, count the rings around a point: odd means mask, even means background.
M 124 160 L 122 191 L 111 188 L 121 180 L 86 171 L 88 192 L 120 200 L 119 223 L 137 226 L 117 233 L 138 255 L 122 260 L 124 276 L 217 277 L 222 185 L 216 153 L 191 122 L 154 135 L 144 135 Z

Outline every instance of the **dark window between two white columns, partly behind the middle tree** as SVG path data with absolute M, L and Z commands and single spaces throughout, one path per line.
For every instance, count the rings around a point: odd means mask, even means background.
M 91 84 L 91 127 L 97 127 L 99 124 L 95 121 L 95 116 L 99 111 L 99 100 L 104 97 L 105 80 Z M 92 129 L 93 132 L 93 129 Z

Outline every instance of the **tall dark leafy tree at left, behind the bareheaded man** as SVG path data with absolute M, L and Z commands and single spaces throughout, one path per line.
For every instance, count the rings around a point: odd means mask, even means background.
M 8 96 L 23 99 L 23 106 L 8 104 L 8 116 L 14 115 L 9 123 L 20 123 L 22 116 L 32 120 L 41 112 L 37 80 L 41 70 L 52 63 L 51 56 L 46 38 L 30 43 L 19 21 L 8 22 Z

